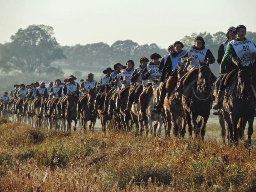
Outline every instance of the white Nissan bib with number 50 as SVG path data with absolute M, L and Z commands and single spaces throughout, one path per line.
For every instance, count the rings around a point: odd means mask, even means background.
M 251 39 L 247 38 L 245 41 L 232 40 L 230 43 L 233 46 L 237 57 L 243 62 L 244 65 L 248 66 L 250 63 L 252 63 L 253 52 L 256 51 L 256 48 Z

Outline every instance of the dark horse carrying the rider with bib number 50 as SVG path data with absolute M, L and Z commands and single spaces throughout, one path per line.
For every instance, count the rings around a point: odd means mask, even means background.
M 229 143 L 238 141 L 238 138 L 243 137 L 244 126 L 237 124 L 240 118 L 243 121 L 248 122 L 248 144 L 251 144 L 251 135 L 253 134 L 253 121 L 254 121 L 254 110 L 255 110 L 255 88 L 253 85 L 253 73 L 252 70 L 255 67 L 255 63 L 250 64 L 249 67 L 244 67 L 242 70 L 239 69 L 238 76 L 235 84 L 235 89 L 229 98 L 223 99 L 222 113 L 227 123 L 232 124 L 229 127 Z M 228 80 L 226 78 L 226 80 Z M 227 81 L 225 81 L 227 85 Z M 245 110 L 246 109 L 246 110 Z M 244 124 L 244 123 L 242 123 Z

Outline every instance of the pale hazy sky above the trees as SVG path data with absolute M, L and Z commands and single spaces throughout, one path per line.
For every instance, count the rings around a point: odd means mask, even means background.
M 50 25 L 61 45 L 131 39 L 163 48 L 185 35 L 243 24 L 256 31 L 255 0 L 0 0 L 0 43 L 19 28 Z

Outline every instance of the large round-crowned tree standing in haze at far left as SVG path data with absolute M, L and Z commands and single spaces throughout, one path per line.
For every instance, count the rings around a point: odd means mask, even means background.
M 67 58 L 53 37 L 53 27 L 30 25 L 11 36 L 11 42 L 0 47 L 0 69 L 5 73 L 20 70 L 23 73 L 59 73 L 61 69 L 50 64 Z

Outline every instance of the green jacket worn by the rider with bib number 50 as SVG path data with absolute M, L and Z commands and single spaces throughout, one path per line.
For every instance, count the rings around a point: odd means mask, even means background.
M 246 40 L 246 38 L 245 38 Z M 235 38 L 235 41 L 240 41 L 238 38 Z M 255 46 L 255 44 L 254 44 Z M 256 47 L 256 46 L 255 46 Z M 225 54 L 223 56 L 221 65 L 220 65 L 220 72 L 221 73 L 229 73 L 233 69 L 237 69 L 238 63 L 240 62 L 240 59 L 237 57 L 237 54 L 235 53 L 235 50 L 231 43 L 227 45 L 227 49 L 225 51 Z

